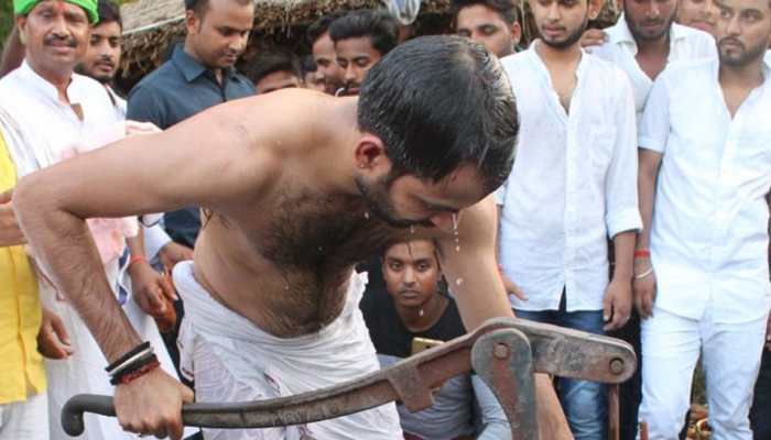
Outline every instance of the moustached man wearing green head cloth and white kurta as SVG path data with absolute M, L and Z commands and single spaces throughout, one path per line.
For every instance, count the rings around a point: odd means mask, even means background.
M 24 62 L 0 79 L 0 110 L 4 110 L 9 119 L 17 122 L 19 135 L 7 135 L 8 124 L 2 123 L 0 132 L 21 178 L 63 161 L 72 153 L 73 147 L 99 145 L 104 141 L 97 140 L 104 140 L 106 133 L 118 132 L 123 122 L 115 111 L 105 87 L 91 78 L 74 73 L 86 53 L 91 25 L 98 21 L 97 1 L 14 0 L 13 9 L 19 36 L 24 44 Z M 12 211 L 0 209 L 0 226 L 15 228 L 14 224 Z M 100 265 L 116 293 L 121 292 L 118 287 L 121 274 L 119 256 L 123 253 L 124 241 L 121 235 L 115 243 L 115 253 L 101 260 Z M 74 250 L 64 242 L 63 246 Z M 33 257 L 40 255 L 34 246 L 26 249 Z M 36 278 L 40 280 L 41 302 L 61 317 L 62 328 L 69 338 L 54 336 L 59 342 L 59 353 L 65 359 L 45 361 L 45 375 L 50 385 L 47 420 L 45 414 L 36 415 L 32 421 L 22 422 L 22 427 L 31 429 L 46 425 L 51 432 L 43 437 L 33 437 L 14 431 L 9 433 L 10 437 L 3 437 L 3 413 L 0 420 L 0 440 L 68 439 L 61 428 L 59 415 L 64 403 L 79 393 L 113 392 L 104 371 L 105 358 L 101 351 L 88 336 L 89 331 L 72 302 L 62 300 L 65 293 L 56 292 L 51 284 L 45 283 L 45 273 L 40 267 L 36 266 Z M 121 304 L 127 315 L 142 318 L 130 318 L 134 329 L 144 332 L 145 328 L 154 326 L 152 318 L 141 312 L 135 301 L 119 294 L 116 296 L 119 300 L 122 298 Z M 163 344 L 160 337 L 156 338 L 156 342 L 159 345 L 155 348 L 161 351 Z M 0 383 L 0 387 L 2 386 Z M 91 418 L 87 419 L 86 424 L 88 440 L 124 440 L 137 437 L 124 432 L 115 420 Z

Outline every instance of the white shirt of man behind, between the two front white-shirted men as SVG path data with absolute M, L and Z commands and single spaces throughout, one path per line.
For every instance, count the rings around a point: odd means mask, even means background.
M 634 58 L 638 50 L 637 42 L 634 42 L 632 33 L 629 31 L 625 15 L 619 16 L 616 24 L 606 29 L 605 33 L 608 35 L 605 44 L 591 47 L 589 51 L 600 58 L 613 63 L 629 76 L 639 121 L 642 118 L 642 110 L 645 107 L 648 94 L 653 87 L 653 80 L 640 68 Z M 672 23 L 667 63 L 716 56 L 717 48 L 715 38 L 712 35 L 693 28 Z

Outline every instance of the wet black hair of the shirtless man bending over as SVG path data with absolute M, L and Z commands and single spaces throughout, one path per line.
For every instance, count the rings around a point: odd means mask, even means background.
M 359 92 L 358 125 L 383 142 L 390 179 L 438 182 L 474 164 L 486 193 L 511 172 L 519 131 L 498 58 L 453 35 L 411 40 L 373 65 Z

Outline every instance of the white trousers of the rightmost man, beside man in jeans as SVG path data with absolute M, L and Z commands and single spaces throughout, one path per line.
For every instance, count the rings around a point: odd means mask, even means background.
M 765 318 L 742 323 L 714 322 L 707 309 L 701 320 L 654 307 L 641 323 L 642 404 L 640 421 L 650 440 L 673 440 L 691 405 L 694 369 L 702 354 L 713 440 L 752 440 L 752 403 Z

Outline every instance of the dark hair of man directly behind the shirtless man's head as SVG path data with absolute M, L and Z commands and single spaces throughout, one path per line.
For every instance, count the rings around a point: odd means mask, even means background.
M 369 36 L 372 47 L 382 56 L 399 44 L 399 22 L 386 11 L 359 9 L 332 22 L 329 36 L 335 43 Z

